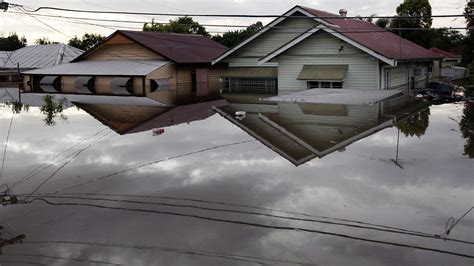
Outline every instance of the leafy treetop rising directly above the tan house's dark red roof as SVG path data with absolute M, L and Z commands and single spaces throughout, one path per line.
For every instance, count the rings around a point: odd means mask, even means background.
M 209 37 L 209 32 L 206 28 L 194 21 L 192 17 L 179 17 L 176 20 L 170 20 L 169 23 L 155 23 L 153 19 L 151 23 L 143 25 L 143 31 L 158 31 L 158 32 L 174 32 L 184 34 L 200 34 Z

